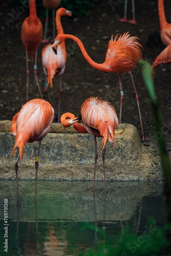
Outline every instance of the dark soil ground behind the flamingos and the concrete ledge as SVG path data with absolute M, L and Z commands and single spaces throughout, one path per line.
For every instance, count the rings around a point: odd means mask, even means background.
M 15 2 L 15 1 L 14 1 Z M 120 3 L 120 4 L 119 4 Z M 20 110 L 26 102 L 26 54 L 20 38 L 23 20 L 28 16 L 28 10 L 20 14 L 18 18 L 7 25 L 5 17 L 12 13 L 12 8 L 17 10 L 21 4 L 8 5 L 4 1 L 1 8 L 1 100 L 0 120 L 12 120 L 14 114 Z M 63 6 L 66 7 L 66 6 Z M 67 8 L 67 7 L 66 7 Z M 108 42 L 111 35 L 129 31 L 131 35 L 137 36 L 143 46 L 143 58 L 153 63 L 156 56 L 164 49 L 159 36 L 159 18 L 157 0 L 135 1 L 137 25 L 120 23 L 118 18 L 123 17 L 124 1 L 96 1 L 94 7 L 89 10 L 89 16 L 72 16 L 62 19 L 65 33 L 78 36 L 88 54 L 98 63 L 105 59 Z M 171 23 L 171 2 L 165 0 L 165 12 L 168 23 Z M 131 0 L 128 1 L 128 19 L 132 18 Z M 41 18 L 45 24 L 45 18 Z M 155 32 L 156 31 L 156 32 Z M 49 26 L 48 36 L 52 37 L 52 25 Z M 41 50 L 45 44 L 41 44 L 38 50 L 37 72 L 41 90 L 44 93 L 46 76 L 41 64 Z M 72 112 L 78 115 L 80 106 L 90 96 L 98 96 L 109 100 L 115 107 L 119 117 L 120 92 L 118 87 L 118 75 L 115 73 L 104 73 L 93 69 L 84 60 L 77 45 L 73 41 L 66 40 L 68 59 L 65 73 L 62 75 L 62 100 L 61 114 Z M 29 100 L 39 97 L 33 75 L 33 63 L 29 62 L 30 89 Z M 161 65 L 156 70 L 154 78 L 156 95 L 160 103 L 163 116 L 162 130 L 170 142 L 171 126 L 171 70 L 170 65 Z M 145 135 L 149 139 L 156 138 L 153 110 L 147 103 L 148 92 L 144 86 L 141 70 L 136 67 L 133 71 L 137 92 L 139 94 L 142 122 Z M 141 135 L 137 102 L 134 88 L 128 74 L 122 75 L 124 101 L 122 122 L 134 124 Z M 58 107 L 58 77 L 53 79 L 53 89 L 49 89 L 50 96 Z M 44 98 L 46 95 L 44 93 Z M 170 143 L 169 143 L 170 145 Z M 171 148 L 171 147 L 170 147 Z

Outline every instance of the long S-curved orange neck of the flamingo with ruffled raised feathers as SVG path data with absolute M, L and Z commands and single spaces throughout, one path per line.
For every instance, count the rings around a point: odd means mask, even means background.
M 60 37 L 60 36 L 59 36 Z M 93 59 L 91 59 L 91 57 L 88 55 L 86 49 L 84 48 L 84 45 L 83 43 L 81 42 L 80 39 L 78 39 L 76 36 L 74 35 L 70 35 L 70 34 L 63 34 L 62 35 L 63 38 L 65 39 L 72 39 L 74 40 L 77 45 L 79 46 L 81 52 L 82 52 L 82 55 L 84 57 L 84 59 L 87 60 L 87 62 L 95 69 L 98 69 L 98 70 L 101 70 L 101 71 L 106 71 L 106 72 L 110 72 L 110 67 L 109 68 L 106 68 L 104 62 L 103 63 L 96 63 Z

